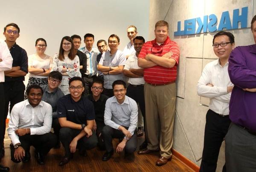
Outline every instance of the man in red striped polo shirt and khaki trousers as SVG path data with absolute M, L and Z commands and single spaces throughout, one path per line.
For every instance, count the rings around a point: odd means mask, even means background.
M 154 30 L 156 39 L 146 42 L 138 56 L 138 65 L 144 68 L 146 82 L 144 95 L 148 131 L 148 147 L 138 154 L 148 154 L 157 151 L 160 147 L 161 157 L 156 162 L 157 166 L 166 164 L 172 158 L 176 105 L 175 80 L 180 51 L 177 43 L 169 38 L 168 29 L 169 25 L 166 21 L 158 21 Z

